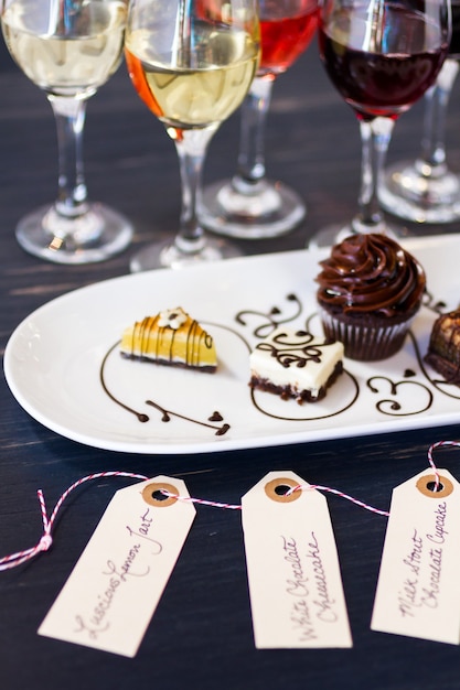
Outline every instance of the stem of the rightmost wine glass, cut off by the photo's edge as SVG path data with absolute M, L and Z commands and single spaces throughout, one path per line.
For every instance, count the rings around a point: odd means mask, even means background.
M 447 58 L 435 86 L 425 95 L 424 134 L 416 168 L 426 177 L 446 171 L 446 115 L 458 72 L 457 60 Z

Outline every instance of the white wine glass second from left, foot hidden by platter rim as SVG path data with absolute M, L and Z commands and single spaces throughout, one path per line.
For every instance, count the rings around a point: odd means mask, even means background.
M 146 247 L 131 270 L 182 268 L 239 254 L 206 238 L 197 219 L 207 144 L 243 101 L 259 60 L 257 0 L 131 0 L 125 54 L 141 99 L 175 143 L 180 230 Z

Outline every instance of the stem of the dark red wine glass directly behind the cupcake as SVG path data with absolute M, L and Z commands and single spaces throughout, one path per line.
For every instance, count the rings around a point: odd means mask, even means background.
M 352 220 L 352 229 L 355 233 L 385 231 L 385 219 L 377 190 L 393 127 L 394 121 L 385 117 L 374 118 L 370 122 L 360 121 L 362 165 L 359 213 Z

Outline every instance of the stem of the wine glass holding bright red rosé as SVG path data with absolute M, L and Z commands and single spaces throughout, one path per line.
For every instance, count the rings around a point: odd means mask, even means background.
M 256 77 L 242 104 L 238 169 L 234 185 L 255 185 L 265 177 L 265 126 L 274 79 Z

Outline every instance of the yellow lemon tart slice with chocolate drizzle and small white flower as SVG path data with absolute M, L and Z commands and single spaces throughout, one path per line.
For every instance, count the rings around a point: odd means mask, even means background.
M 121 337 L 124 357 L 214 373 L 217 356 L 213 337 L 181 306 L 146 316 Z

